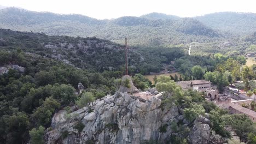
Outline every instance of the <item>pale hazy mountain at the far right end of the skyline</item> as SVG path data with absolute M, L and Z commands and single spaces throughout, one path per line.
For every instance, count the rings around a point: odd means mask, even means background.
M 194 17 L 206 26 L 236 34 L 249 34 L 256 31 L 256 14 L 222 12 Z

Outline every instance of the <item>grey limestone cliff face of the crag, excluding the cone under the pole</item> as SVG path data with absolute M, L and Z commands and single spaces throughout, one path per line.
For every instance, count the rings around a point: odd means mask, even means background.
M 97 100 L 92 112 L 86 107 L 65 117 L 66 111 L 55 113 L 51 128 L 45 135 L 46 143 L 141 143 L 144 140 L 166 141 L 172 130 L 160 133 L 159 127 L 176 121 L 177 107 L 161 110 L 161 100 L 155 95 L 141 101 L 127 92 Z M 82 122 L 85 127 L 79 133 L 74 126 Z M 171 129 L 168 125 L 167 129 Z M 68 136 L 61 139 L 63 131 Z

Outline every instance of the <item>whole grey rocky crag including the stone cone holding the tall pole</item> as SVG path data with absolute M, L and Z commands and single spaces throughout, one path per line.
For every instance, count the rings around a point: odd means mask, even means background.
M 129 87 L 124 85 L 130 80 Z M 136 93 L 133 93 L 136 92 Z M 92 107 L 84 107 L 67 115 L 55 113 L 51 128 L 47 129 L 45 142 L 55 143 L 142 143 L 145 141 L 170 142 L 177 134 L 173 123 L 189 125 L 177 106 L 161 106 L 156 89 L 138 92 L 130 76 L 124 76 L 119 91 L 95 101 Z M 197 118 L 191 125 L 188 141 L 205 144 L 210 139 L 208 117 Z M 78 124 L 80 125 L 78 128 Z M 80 130 L 79 130 L 80 129 Z

